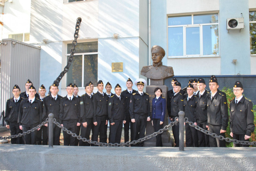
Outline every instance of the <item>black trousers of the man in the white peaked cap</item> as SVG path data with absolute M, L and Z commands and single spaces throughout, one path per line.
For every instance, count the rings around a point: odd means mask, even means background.
M 133 140 L 141 139 L 145 136 L 147 116 L 141 116 L 138 114 L 134 115 L 135 123 L 132 123 L 133 126 Z M 134 146 L 143 147 L 144 142 L 135 144 Z

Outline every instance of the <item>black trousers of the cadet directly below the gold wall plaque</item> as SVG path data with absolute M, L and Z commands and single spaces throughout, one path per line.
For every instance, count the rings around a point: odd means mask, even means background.
M 109 137 L 109 143 L 120 143 L 123 129 L 123 121 L 114 120 L 114 125 L 110 125 L 111 135 Z

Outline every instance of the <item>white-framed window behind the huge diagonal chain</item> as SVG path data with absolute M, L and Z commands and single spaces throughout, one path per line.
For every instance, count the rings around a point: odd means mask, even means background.
M 72 43 L 67 46 L 67 59 L 70 55 Z M 78 87 L 92 81 L 94 85 L 98 79 L 98 42 L 77 43 L 76 53 L 67 72 L 67 85 L 75 83 Z

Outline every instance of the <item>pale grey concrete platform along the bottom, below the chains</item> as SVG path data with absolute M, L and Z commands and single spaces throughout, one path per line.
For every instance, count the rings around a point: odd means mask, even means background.
M 0 144 L 0 170 L 256 170 L 256 148 Z

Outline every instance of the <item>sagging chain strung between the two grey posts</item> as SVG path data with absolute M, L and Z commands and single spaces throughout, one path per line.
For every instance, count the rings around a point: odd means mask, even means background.
M 137 143 L 141 143 L 143 141 L 146 141 L 148 139 L 151 139 L 152 137 L 157 136 L 160 133 L 163 133 L 163 131 L 168 130 L 170 127 L 173 127 L 175 125 L 175 123 L 177 123 L 178 121 L 176 120 L 178 117 L 175 118 L 175 121 L 170 122 L 169 125 L 166 125 L 165 127 L 163 127 L 162 129 L 159 129 L 159 131 L 152 133 L 151 135 L 148 135 L 144 138 L 138 139 L 138 140 L 134 140 L 131 142 L 126 142 L 126 143 L 100 143 L 98 141 L 92 141 L 92 140 L 87 140 L 86 138 L 82 138 L 81 136 L 77 136 L 75 133 L 72 133 L 71 131 L 69 131 L 67 128 L 61 126 L 60 123 L 58 123 L 56 121 L 56 119 L 53 119 L 53 123 L 57 125 L 57 127 L 61 128 L 63 131 L 67 132 L 69 135 L 72 135 L 72 137 L 77 138 L 78 140 L 82 140 L 83 142 L 87 142 L 90 144 L 94 144 L 94 145 L 99 145 L 99 146 L 108 146 L 108 147 L 120 147 L 120 146 L 129 146 L 131 144 L 137 144 Z

